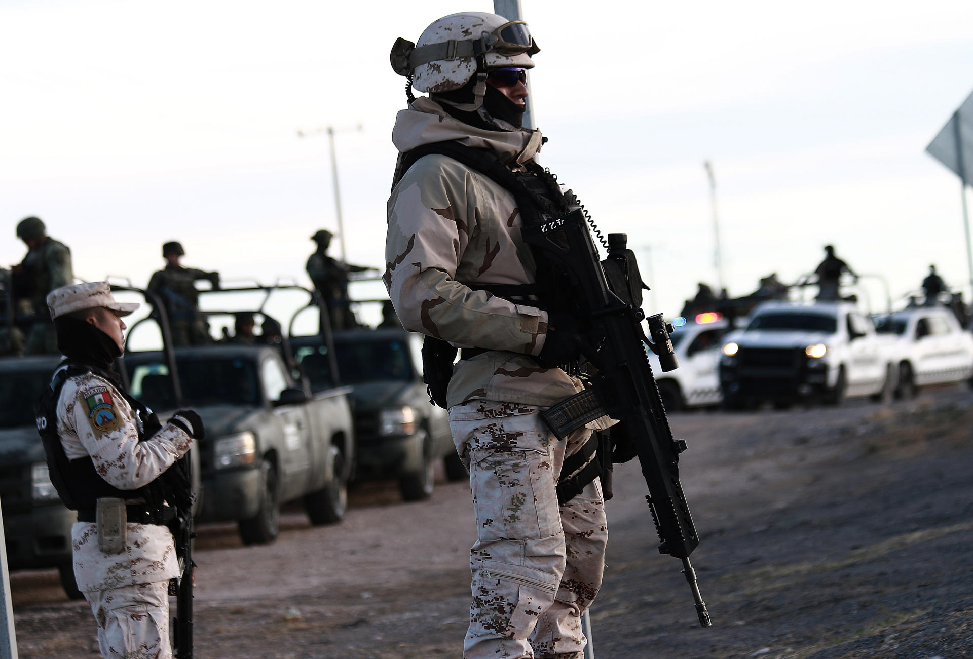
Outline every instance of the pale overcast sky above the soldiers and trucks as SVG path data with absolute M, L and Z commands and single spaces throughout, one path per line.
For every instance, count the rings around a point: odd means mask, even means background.
M 828 243 L 893 298 L 931 262 L 968 291 L 959 183 L 924 149 L 973 90 L 973 3 L 522 1 L 543 163 L 629 233 L 660 310 L 716 284 L 705 159 L 731 295 Z M 180 240 L 225 281 L 306 283 L 337 221 L 327 137 L 297 131 L 333 124 L 347 258 L 383 266 L 388 51 L 460 10 L 492 3 L 0 0 L 0 265 L 37 215 L 86 280 L 145 285 Z

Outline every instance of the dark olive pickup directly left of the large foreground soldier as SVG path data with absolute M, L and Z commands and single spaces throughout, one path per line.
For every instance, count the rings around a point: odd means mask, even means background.
M 334 334 L 343 384 L 352 388 L 357 478 L 399 480 L 406 501 L 428 499 L 434 465 L 447 478 L 467 478 L 452 443 L 445 409 L 429 402 L 422 382 L 422 337 L 402 329 L 343 330 Z M 327 388 L 330 362 L 320 336 L 291 338 L 295 359 L 311 388 Z

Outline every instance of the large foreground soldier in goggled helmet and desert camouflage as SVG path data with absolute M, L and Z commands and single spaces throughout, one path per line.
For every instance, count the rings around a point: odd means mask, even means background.
M 453 441 L 470 470 L 478 533 L 466 659 L 580 659 L 580 616 L 601 583 L 607 540 L 599 481 L 564 504 L 556 486 L 577 472 L 561 473 L 565 458 L 610 420 L 559 441 L 539 416 L 583 390 L 557 365 L 577 357 L 570 323 L 561 326 L 554 312 L 529 301 L 479 290 L 535 281 L 514 196 L 439 154 L 401 171 L 409 152 L 444 141 L 489 150 L 511 171 L 523 171 L 542 143 L 539 131 L 520 127 L 523 69 L 536 52 L 525 27 L 476 12 L 444 17 L 426 28 L 415 53 L 450 39 L 462 48 L 471 43 L 461 41 L 466 37 L 486 43 L 486 54 L 416 63 L 407 52 L 400 61 L 408 66 L 396 68 L 431 95 L 412 99 L 393 129 L 402 156 L 388 201 L 384 282 L 407 330 L 463 349 L 447 405 Z

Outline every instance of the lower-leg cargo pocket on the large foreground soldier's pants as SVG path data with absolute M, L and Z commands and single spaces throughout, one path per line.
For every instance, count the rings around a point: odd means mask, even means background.
M 504 638 L 523 641 L 538 616 L 554 602 L 559 577 L 487 559 L 480 564 L 473 593 L 473 619 Z

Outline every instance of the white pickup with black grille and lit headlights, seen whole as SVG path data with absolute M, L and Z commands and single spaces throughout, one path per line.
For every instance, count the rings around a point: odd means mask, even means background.
M 756 307 L 749 324 L 724 338 L 720 386 L 728 408 L 770 400 L 841 404 L 887 400 L 896 387 L 895 339 L 878 334 L 847 302 L 774 301 Z

